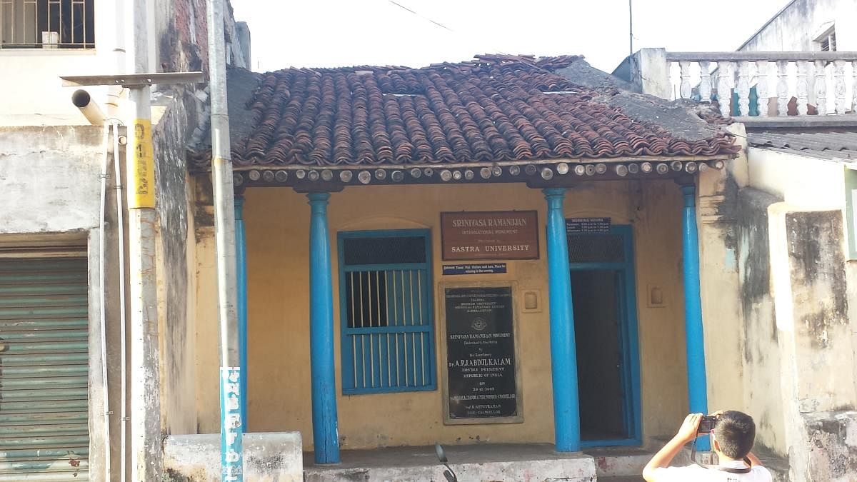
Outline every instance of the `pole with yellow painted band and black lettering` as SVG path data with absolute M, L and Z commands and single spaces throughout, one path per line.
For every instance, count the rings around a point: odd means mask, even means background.
M 148 71 L 146 1 L 135 0 L 129 52 L 133 72 Z M 130 89 L 133 118 L 129 177 L 129 275 L 131 334 L 131 479 L 156 480 L 163 473 L 160 446 L 158 298 L 155 278 L 155 176 L 149 87 Z

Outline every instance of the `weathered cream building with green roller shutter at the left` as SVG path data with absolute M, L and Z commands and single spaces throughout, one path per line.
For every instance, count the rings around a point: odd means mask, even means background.
M 187 341 L 195 277 L 186 250 L 194 223 L 184 151 L 207 115 L 194 95 L 203 91 L 163 86 L 152 95 L 161 303 L 160 327 L 150 330 L 163 335 L 164 359 L 162 401 L 151 410 L 162 427 L 140 433 L 140 414 L 122 407 L 142 381 L 129 371 L 123 393 L 117 234 L 125 235 L 117 230 L 113 171 L 117 158 L 125 166 L 129 134 L 111 127 L 133 117 L 124 111 L 127 92 L 87 87 L 108 117 L 91 125 L 72 105 L 75 87 L 61 87 L 59 78 L 134 71 L 126 68 L 132 53 L 117 49 L 135 52 L 135 45 L 147 45 L 136 55 L 152 71 L 207 69 L 206 2 L 146 4 L 148 22 L 135 28 L 131 2 L 0 3 L 0 89 L 7 93 L 0 105 L 0 480 L 119 479 L 135 463 L 132 437 L 159 447 L 163 433 L 196 430 L 195 400 L 177 392 L 195 379 Z M 231 15 L 226 24 L 230 62 L 246 65 L 249 45 L 239 43 L 246 26 Z M 108 93 L 121 95 L 117 108 L 107 105 L 117 101 Z

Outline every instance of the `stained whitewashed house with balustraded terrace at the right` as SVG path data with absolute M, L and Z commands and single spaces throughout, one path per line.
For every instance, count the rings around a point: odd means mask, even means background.
M 706 325 L 707 338 L 716 333 L 729 347 L 713 358 L 706 344 L 707 365 L 723 370 L 709 391 L 718 407 L 756 416 L 758 443 L 788 459 L 790 480 L 848 478 L 857 468 L 848 436 L 857 420 L 855 13 L 848 0 L 795 0 L 738 51 L 652 49 L 634 58 L 632 81 L 643 92 L 670 98 L 677 86 L 690 97 L 698 83 L 704 103 L 719 102 L 718 93 L 732 99 L 717 105 L 734 115 L 746 157 L 700 199 L 709 214 L 703 264 L 734 277 L 707 297 L 702 276 L 704 303 L 719 299 L 729 320 Z

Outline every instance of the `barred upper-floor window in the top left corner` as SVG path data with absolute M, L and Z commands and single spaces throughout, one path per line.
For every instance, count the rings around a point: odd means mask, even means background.
M 0 0 L 0 49 L 92 49 L 94 0 Z

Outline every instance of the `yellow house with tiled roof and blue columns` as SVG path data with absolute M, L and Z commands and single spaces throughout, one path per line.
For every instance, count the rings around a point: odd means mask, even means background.
M 696 202 L 740 146 L 716 112 L 631 88 L 572 56 L 231 70 L 245 430 L 299 431 L 308 479 L 440 442 L 555 449 L 544 467 L 584 480 L 581 449 L 653 445 L 688 396 L 706 411 Z M 189 153 L 201 434 L 220 425 L 210 155 Z M 201 437 L 167 437 L 171 470 Z

